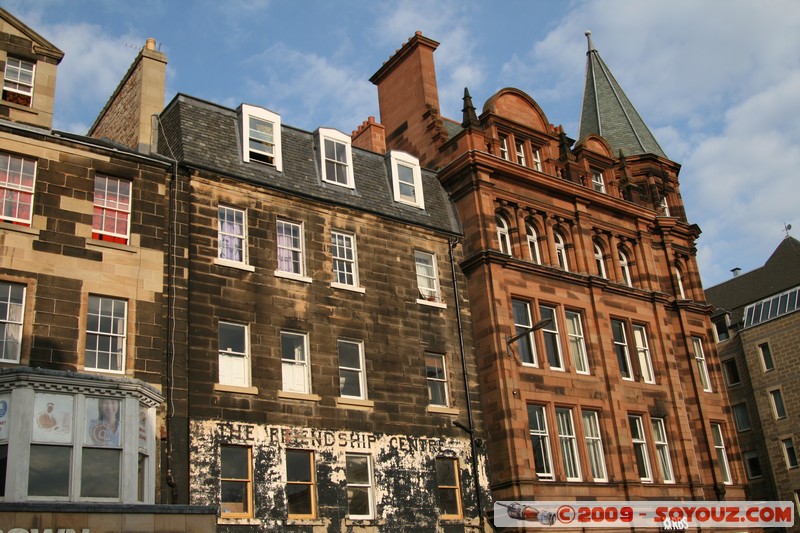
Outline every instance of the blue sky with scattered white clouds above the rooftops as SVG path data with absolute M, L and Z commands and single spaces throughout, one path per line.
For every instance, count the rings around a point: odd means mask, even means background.
M 369 78 L 422 33 L 444 116 L 504 87 L 577 138 L 586 37 L 681 164 L 702 234 L 704 287 L 800 236 L 800 4 L 796 0 L 0 0 L 60 48 L 54 128 L 86 133 L 147 38 L 185 93 L 267 107 L 288 125 L 350 133 L 380 119 Z M 787 232 L 786 226 L 796 229 Z

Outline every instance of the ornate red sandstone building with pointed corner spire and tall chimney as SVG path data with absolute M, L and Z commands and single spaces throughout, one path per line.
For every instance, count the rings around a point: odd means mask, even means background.
M 456 205 L 494 500 L 743 499 L 680 165 L 591 40 L 577 142 L 514 88 L 441 116 L 437 46 L 372 76 L 353 142 L 418 157 Z

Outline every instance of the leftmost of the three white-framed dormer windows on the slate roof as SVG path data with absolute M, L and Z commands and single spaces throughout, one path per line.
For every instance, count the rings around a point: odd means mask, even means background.
M 283 170 L 281 158 L 281 116 L 263 107 L 242 104 L 242 159 Z

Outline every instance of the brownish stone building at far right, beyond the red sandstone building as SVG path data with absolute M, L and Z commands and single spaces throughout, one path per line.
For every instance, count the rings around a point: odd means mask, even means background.
M 794 501 L 800 512 L 800 242 L 787 235 L 764 266 L 735 273 L 706 297 L 748 499 Z

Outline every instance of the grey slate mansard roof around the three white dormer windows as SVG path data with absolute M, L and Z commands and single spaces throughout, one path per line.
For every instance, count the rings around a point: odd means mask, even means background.
M 384 154 L 352 147 L 355 189 L 322 181 L 314 133 L 283 124 L 283 171 L 242 159 L 236 110 L 178 94 L 160 116 L 159 153 L 180 164 L 241 179 L 266 188 L 342 205 L 460 235 L 461 226 L 435 173 L 422 170 L 425 209 L 394 201 L 389 161 Z

